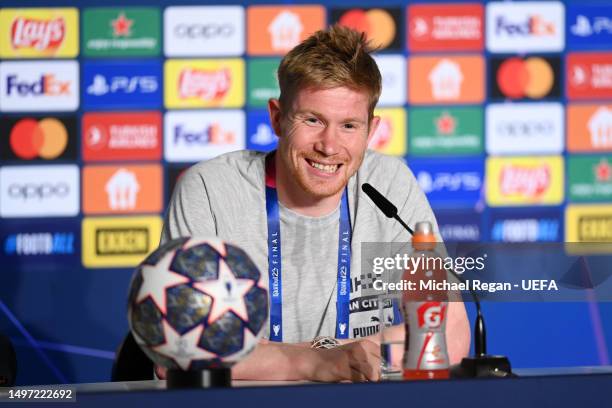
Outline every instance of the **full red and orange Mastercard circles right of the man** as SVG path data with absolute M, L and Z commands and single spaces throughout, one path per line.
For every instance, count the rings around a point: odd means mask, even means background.
M 540 99 L 546 97 L 555 83 L 555 73 L 544 58 L 509 58 L 497 70 L 500 91 L 509 98 Z

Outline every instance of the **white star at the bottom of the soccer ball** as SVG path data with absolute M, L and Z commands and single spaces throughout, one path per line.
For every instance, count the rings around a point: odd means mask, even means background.
M 180 335 L 166 320 L 162 321 L 165 343 L 152 347 L 154 351 L 163 354 L 187 371 L 193 360 L 213 360 L 216 354 L 208 352 L 198 346 L 200 336 L 204 330 L 203 325 L 198 325 L 187 333 Z

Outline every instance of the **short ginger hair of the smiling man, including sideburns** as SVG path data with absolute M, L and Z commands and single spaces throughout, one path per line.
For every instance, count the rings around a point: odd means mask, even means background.
M 278 67 L 283 112 L 289 112 L 293 97 L 301 89 L 344 86 L 367 92 L 371 119 L 382 90 L 380 71 L 370 55 L 373 51 L 365 33 L 338 24 L 305 39 L 285 55 Z

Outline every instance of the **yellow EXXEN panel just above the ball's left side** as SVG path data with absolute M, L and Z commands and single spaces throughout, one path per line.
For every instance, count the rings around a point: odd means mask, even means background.
M 85 218 L 83 265 L 87 268 L 136 266 L 157 248 L 161 230 L 160 217 Z

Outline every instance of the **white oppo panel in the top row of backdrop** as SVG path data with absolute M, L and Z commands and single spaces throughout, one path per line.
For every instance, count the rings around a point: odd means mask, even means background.
M 164 11 L 167 57 L 240 56 L 244 42 L 242 6 L 168 7 Z

